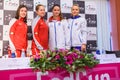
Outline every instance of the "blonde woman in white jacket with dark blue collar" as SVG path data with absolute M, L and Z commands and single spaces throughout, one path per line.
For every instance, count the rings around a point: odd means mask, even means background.
M 68 19 L 70 45 L 71 48 L 76 48 L 82 51 L 86 50 L 87 27 L 86 20 L 79 15 L 80 7 L 74 4 L 71 8 L 71 18 Z

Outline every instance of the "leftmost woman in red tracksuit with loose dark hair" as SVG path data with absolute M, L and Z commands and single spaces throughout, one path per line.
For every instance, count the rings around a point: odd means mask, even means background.
M 22 52 L 27 49 L 27 7 L 20 5 L 17 9 L 16 16 L 9 23 L 9 44 L 11 52 L 15 56 L 21 57 Z

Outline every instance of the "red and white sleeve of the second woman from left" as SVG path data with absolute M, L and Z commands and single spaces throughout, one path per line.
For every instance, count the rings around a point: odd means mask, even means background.
M 33 22 L 32 25 L 32 33 L 33 33 L 33 40 L 35 41 L 35 44 L 39 50 L 42 50 L 43 47 L 40 44 L 40 39 L 39 39 L 39 24 Z

